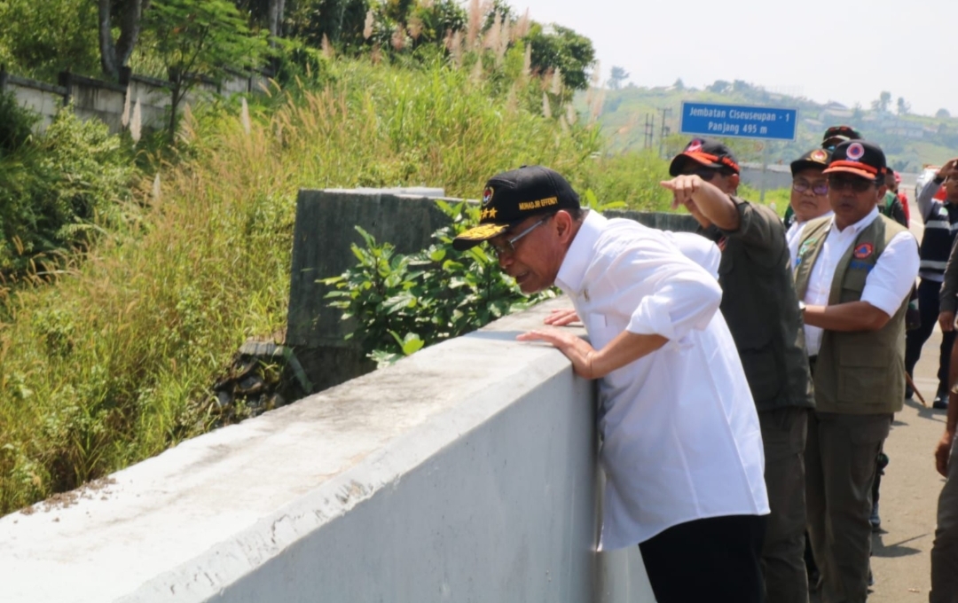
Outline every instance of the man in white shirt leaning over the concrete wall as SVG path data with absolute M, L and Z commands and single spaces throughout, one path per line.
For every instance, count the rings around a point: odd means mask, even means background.
M 481 241 L 524 292 L 557 284 L 588 331 L 591 345 L 558 328 L 519 339 L 599 379 L 600 548 L 639 545 L 659 603 L 763 601 L 761 433 L 716 279 L 661 231 L 583 211 L 544 167 L 490 178 L 453 246 Z

